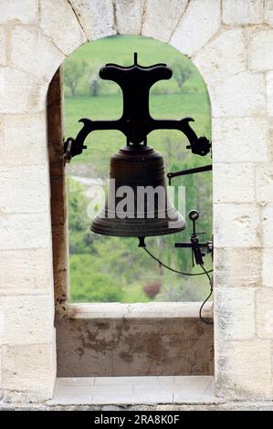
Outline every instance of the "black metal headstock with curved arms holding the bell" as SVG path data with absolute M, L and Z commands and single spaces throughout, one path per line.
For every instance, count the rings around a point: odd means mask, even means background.
M 116 82 L 122 90 L 123 111 L 119 120 L 81 119 L 83 128 L 76 139 L 69 137 L 64 143 L 65 161 L 82 152 L 86 148 L 84 141 L 91 131 L 119 130 L 127 140 L 127 144 L 146 144 L 147 135 L 154 130 L 182 131 L 189 141 L 187 149 L 201 156 L 210 152 L 211 143 L 205 137 L 197 137 L 189 122 L 193 118 L 182 120 L 155 120 L 150 115 L 149 93 L 155 82 L 172 78 L 173 71 L 166 64 L 160 63 L 150 67 L 140 66 L 137 54 L 130 67 L 118 64 L 106 64 L 100 68 L 100 78 Z

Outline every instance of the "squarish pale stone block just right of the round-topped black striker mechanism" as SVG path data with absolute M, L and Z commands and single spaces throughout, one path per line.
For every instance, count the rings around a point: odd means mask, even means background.
M 257 204 L 215 204 L 215 247 L 259 247 L 259 216 Z

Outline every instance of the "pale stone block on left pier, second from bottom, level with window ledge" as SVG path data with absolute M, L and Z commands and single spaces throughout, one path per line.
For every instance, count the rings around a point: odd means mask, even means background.
M 51 342 L 54 322 L 54 302 L 51 296 L 2 296 L 0 313 L 3 323 L 0 344 Z

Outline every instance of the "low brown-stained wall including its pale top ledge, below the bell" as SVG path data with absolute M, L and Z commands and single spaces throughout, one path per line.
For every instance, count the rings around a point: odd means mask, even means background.
M 212 375 L 214 329 L 200 305 L 68 305 L 56 321 L 58 377 Z

